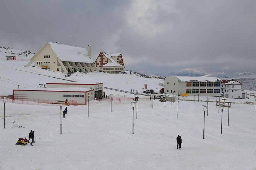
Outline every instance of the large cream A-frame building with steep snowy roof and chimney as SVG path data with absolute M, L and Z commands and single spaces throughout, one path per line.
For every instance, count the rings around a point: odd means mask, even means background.
M 91 59 L 90 45 L 88 45 L 87 51 L 81 47 L 47 42 L 26 66 L 30 66 L 32 63 L 34 66 L 56 72 L 99 72 Z

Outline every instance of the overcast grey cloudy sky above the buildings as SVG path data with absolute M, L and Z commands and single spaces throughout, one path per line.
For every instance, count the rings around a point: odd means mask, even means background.
M 256 73 L 255 0 L 1 0 L 0 45 L 122 52 L 125 69 Z

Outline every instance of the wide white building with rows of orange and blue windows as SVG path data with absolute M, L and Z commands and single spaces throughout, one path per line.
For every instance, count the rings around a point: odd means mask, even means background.
M 164 79 L 164 92 L 167 94 L 219 96 L 220 79 L 217 77 L 170 76 Z

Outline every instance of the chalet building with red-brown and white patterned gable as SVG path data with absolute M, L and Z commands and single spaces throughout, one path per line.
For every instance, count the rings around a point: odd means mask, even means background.
M 107 72 L 110 74 L 123 73 L 125 68 L 122 53 L 105 53 L 105 51 L 102 51 L 94 64 L 100 72 Z

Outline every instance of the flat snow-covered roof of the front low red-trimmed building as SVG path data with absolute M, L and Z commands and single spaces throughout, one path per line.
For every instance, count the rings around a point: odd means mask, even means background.
M 86 92 L 92 90 L 90 88 L 82 88 L 82 87 L 58 87 L 58 88 L 19 88 L 14 90 L 29 90 L 29 91 L 82 91 Z

